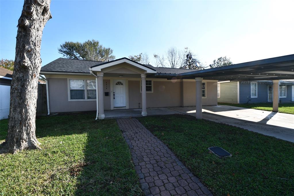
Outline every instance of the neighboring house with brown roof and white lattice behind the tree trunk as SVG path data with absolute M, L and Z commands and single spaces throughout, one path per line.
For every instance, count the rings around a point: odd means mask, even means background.
M 0 120 L 8 118 L 10 104 L 10 86 L 13 71 L 0 67 Z M 38 83 L 46 82 L 39 80 Z

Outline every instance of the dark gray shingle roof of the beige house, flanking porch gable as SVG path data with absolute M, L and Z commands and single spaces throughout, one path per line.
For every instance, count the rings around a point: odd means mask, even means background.
M 43 67 L 41 72 L 76 72 L 76 73 L 90 73 L 89 68 L 95 65 L 102 64 L 101 61 L 86 61 L 76 59 L 58 58 Z M 152 65 L 145 65 L 151 69 L 155 69 L 157 73 L 163 74 L 181 74 L 186 72 L 193 72 L 195 69 L 175 69 L 166 67 L 153 67 Z

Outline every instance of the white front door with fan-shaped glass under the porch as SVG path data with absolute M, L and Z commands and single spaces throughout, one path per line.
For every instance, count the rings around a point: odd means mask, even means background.
M 113 80 L 113 107 L 126 107 L 125 80 Z

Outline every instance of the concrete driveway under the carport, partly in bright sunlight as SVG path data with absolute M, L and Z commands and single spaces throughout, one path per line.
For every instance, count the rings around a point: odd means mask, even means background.
M 171 107 L 170 109 L 196 116 L 195 107 Z M 202 112 L 203 119 L 241 127 L 294 142 L 294 114 L 227 105 L 203 106 Z

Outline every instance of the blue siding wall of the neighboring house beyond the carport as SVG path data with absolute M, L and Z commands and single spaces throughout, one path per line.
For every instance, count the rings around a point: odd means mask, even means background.
M 263 103 L 268 102 L 268 84 L 257 83 L 257 97 L 251 98 L 250 83 L 239 83 L 239 103 Z M 282 102 L 291 101 L 292 99 L 292 87 L 287 85 L 287 97 L 280 98 Z

